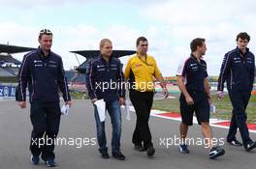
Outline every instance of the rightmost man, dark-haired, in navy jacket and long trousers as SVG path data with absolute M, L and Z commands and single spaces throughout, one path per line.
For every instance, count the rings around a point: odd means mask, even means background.
M 227 142 L 233 146 L 243 145 L 246 151 L 256 148 L 256 142 L 249 137 L 245 113 L 255 75 L 255 58 L 247 48 L 249 41 L 250 37 L 245 32 L 241 32 L 237 36 L 237 48 L 229 51 L 224 56 L 217 89 L 218 98 L 222 99 L 224 97 L 224 82 L 227 81 L 227 89 L 233 105 Z M 240 128 L 242 143 L 236 138 L 238 128 Z

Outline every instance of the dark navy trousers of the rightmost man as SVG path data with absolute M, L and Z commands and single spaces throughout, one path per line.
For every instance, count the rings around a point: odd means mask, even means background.
M 251 142 L 248 127 L 246 125 L 247 116 L 245 113 L 250 96 L 250 91 L 229 91 L 233 111 L 227 140 L 232 141 L 233 139 L 236 139 L 236 133 L 239 127 L 244 147 Z

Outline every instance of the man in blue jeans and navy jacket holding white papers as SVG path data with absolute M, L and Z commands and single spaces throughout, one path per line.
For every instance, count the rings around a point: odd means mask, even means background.
M 90 62 L 86 69 L 86 87 L 93 103 L 104 99 L 106 109 L 112 120 L 112 156 L 124 160 L 120 151 L 121 109 L 124 104 L 125 87 L 122 65 L 117 58 L 112 57 L 112 42 L 103 39 L 100 42 L 100 54 Z M 99 152 L 103 158 L 109 158 L 105 134 L 105 122 L 101 122 L 97 106 L 94 104 L 94 116 L 97 127 Z

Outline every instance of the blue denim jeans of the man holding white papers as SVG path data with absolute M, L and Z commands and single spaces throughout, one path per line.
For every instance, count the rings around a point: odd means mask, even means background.
M 120 151 L 121 138 L 121 109 L 118 100 L 106 102 L 106 109 L 108 110 L 112 120 L 112 153 Z M 99 144 L 99 152 L 101 154 L 108 153 L 107 139 L 105 134 L 105 122 L 101 122 L 96 105 L 94 105 L 94 116 L 97 127 L 97 140 Z

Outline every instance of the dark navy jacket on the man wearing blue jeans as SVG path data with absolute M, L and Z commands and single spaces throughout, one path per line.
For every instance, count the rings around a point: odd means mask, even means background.
M 112 101 L 125 97 L 122 64 L 111 57 L 106 62 L 102 56 L 93 59 L 86 68 L 86 87 L 90 99 Z

